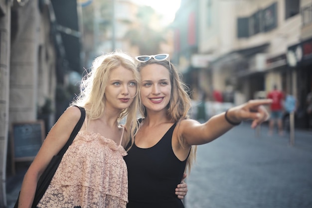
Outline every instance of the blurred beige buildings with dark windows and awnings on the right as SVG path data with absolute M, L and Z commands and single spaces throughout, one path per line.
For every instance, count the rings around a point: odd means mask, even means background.
M 297 124 L 307 128 L 311 8 L 310 0 L 181 0 L 174 58 L 193 99 L 233 89 L 240 104 L 276 84 L 297 97 Z

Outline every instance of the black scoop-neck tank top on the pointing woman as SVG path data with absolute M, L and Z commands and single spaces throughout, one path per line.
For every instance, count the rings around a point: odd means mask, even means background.
M 124 157 L 128 167 L 129 203 L 127 208 L 184 208 L 175 195 L 185 161 L 173 153 L 171 140 L 174 123 L 159 142 L 151 148 L 134 144 Z

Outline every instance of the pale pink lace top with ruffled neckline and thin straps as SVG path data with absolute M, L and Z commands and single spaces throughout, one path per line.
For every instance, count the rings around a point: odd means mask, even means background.
M 78 132 L 37 207 L 126 208 L 126 155 L 125 149 L 111 139 Z

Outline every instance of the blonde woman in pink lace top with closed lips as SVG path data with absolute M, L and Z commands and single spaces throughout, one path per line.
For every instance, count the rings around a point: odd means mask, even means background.
M 82 80 L 81 94 L 47 135 L 24 176 L 19 208 L 30 208 L 41 173 L 68 140 L 86 110 L 86 118 L 63 159 L 38 208 L 125 208 L 128 175 L 124 147 L 136 124 L 139 73 L 134 60 L 123 52 L 95 59 Z M 119 121 L 127 115 L 125 126 Z

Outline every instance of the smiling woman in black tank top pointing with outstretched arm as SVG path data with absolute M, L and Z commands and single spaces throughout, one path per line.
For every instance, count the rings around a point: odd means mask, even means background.
M 242 120 L 252 119 L 252 128 L 256 127 L 268 118 L 263 105 L 271 100 L 249 101 L 200 124 L 188 118 L 191 100 L 168 54 L 136 59 L 144 119 L 124 158 L 129 177 L 127 208 L 183 208 L 174 188 L 185 169 L 190 170 L 196 145 L 213 141 Z

